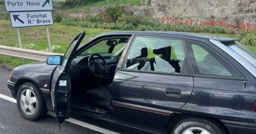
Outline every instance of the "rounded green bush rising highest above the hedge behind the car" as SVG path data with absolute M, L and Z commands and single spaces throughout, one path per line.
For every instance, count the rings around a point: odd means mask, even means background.
M 108 15 L 111 19 L 112 22 L 116 22 L 116 20 L 118 19 L 118 17 L 121 17 L 124 13 L 124 6 L 120 6 L 120 5 L 112 5 L 112 6 L 108 6 L 106 8 L 106 15 Z

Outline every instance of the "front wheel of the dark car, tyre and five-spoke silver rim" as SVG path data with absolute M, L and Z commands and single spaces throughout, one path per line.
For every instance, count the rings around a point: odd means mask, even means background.
M 20 114 L 30 121 L 40 119 L 47 113 L 45 100 L 38 88 L 28 82 L 19 87 L 17 107 Z

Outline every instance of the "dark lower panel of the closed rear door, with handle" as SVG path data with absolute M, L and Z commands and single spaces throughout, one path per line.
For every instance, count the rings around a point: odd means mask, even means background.
M 193 77 L 117 71 L 111 93 L 118 122 L 163 132 L 193 91 Z

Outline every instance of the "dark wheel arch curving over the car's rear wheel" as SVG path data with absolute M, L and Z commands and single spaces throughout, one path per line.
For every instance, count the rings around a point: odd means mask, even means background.
M 220 119 L 215 119 L 215 118 L 211 118 L 211 117 L 201 117 L 201 116 L 195 116 L 195 115 L 188 115 L 188 114 L 173 114 L 170 115 L 170 117 L 168 117 L 165 126 L 164 126 L 164 131 L 165 133 L 170 133 L 171 130 L 173 130 L 173 128 L 176 126 L 177 123 L 179 123 L 180 121 L 182 121 L 183 119 L 187 119 L 187 118 L 198 118 L 198 119 L 205 119 L 207 121 L 212 121 L 214 123 L 219 124 L 223 130 L 225 130 L 225 132 L 227 134 L 230 134 L 230 131 L 228 131 L 228 128 L 225 126 L 225 124 L 223 122 L 220 121 Z

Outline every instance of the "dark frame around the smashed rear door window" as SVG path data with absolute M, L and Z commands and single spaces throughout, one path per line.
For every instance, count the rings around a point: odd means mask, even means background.
M 182 47 L 184 49 L 184 54 L 185 54 L 185 60 L 184 60 L 184 64 L 183 64 L 182 68 L 185 68 L 184 70 L 188 70 L 188 72 L 184 73 L 183 70 L 181 70 L 180 73 L 167 73 L 167 72 L 161 72 L 161 71 L 127 70 L 125 68 L 125 64 L 126 64 L 128 55 L 131 51 L 131 47 L 134 43 L 134 40 L 137 37 L 180 40 L 182 43 Z M 120 68 L 118 68 L 118 70 L 120 70 L 120 71 L 130 71 L 130 72 L 137 72 L 137 73 L 152 73 L 152 74 L 162 74 L 162 75 L 176 75 L 176 76 L 192 76 L 191 69 L 189 68 L 189 63 L 188 63 L 188 57 L 187 57 L 188 54 L 186 52 L 185 42 L 184 42 L 183 38 L 177 38 L 177 37 L 172 37 L 172 36 L 155 36 L 155 35 L 147 35 L 147 34 L 134 34 L 134 36 L 131 38 L 131 42 L 129 44 L 127 44 L 127 48 L 125 48 L 124 50 L 127 50 L 127 52 L 125 52 L 125 57 L 124 57 L 124 59 L 122 59 L 122 64 L 120 65 Z M 180 68 L 180 69 L 182 69 L 182 68 Z

